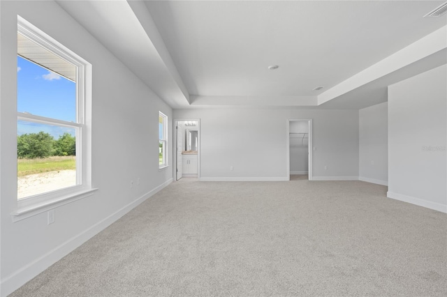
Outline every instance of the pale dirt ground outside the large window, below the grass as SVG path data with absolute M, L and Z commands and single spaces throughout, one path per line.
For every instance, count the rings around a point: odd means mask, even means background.
M 17 177 L 17 198 L 38 195 L 76 184 L 76 170 L 43 172 Z

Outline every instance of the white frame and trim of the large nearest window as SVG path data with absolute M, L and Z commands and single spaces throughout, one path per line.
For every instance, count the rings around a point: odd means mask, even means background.
M 76 73 L 77 123 L 19 112 L 17 112 L 17 120 L 53 123 L 76 129 L 76 181 L 79 184 L 22 199 L 16 197 L 17 208 L 11 213 L 14 222 L 89 197 L 97 190 L 91 186 L 91 64 L 19 15 L 17 15 L 17 31 L 78 68 Z M 17 172 L 15 175 L 17 176 Z

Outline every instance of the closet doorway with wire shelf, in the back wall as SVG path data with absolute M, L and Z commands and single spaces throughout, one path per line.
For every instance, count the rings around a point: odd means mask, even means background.
M 312 119 L 288 120 L 287 176 L 312 181 Z

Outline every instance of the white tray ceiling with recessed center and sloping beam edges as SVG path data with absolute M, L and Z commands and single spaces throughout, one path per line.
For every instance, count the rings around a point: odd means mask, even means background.
M 441 3 L 59 1 L 174 108 L 355 109 L 386 101 L 388 84 L 446 63 L 444 35 L 437 53 L 419 54 L 399 69 L 334 91 L 446 26 L 446 15 L 423 18 Z M 279 68 L 268 70 L 274 64 Z M 316 86 L 324 89 L 312 91 Z

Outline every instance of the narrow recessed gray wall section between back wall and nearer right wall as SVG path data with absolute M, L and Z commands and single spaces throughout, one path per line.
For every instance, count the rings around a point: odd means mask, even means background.
M 359 179 L 388 185 L 388 102 L 359 110 Z

